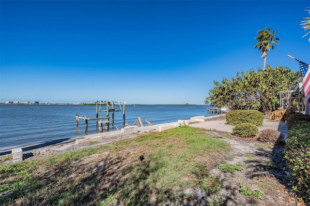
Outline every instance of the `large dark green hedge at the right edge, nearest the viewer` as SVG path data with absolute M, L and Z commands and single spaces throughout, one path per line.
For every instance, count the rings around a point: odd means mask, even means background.
M 293 190 L 310 204 L 310 122 L 293 126 L 289 131 L 284 154 Z

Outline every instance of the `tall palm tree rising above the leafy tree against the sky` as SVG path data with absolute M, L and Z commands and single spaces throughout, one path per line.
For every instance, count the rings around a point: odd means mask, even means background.
M 262 51 L 262 58 L 263 58 L 263 70 L 265 70 L 266 67 L 266 57 L 268 54 L 269 49 L 273 49 L 274 46 L 272 44 L 279 44 L 280 38 L 275 37 L 275 33 L 279 29 L 275 30 L 274 32 L 270 33 L 270 27 L 268 26 L 267 29 L 259 30 L 258 37 L 255 39 L 258 41 L 258 43 L 254 46 L 254 48 L 258 48 Z

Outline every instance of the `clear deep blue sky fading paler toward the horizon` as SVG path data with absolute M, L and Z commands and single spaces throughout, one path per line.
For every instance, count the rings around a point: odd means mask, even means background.
M 213 80 L 310 63 L 309 0 L 0 1 L 0 102 L 203 104 Z

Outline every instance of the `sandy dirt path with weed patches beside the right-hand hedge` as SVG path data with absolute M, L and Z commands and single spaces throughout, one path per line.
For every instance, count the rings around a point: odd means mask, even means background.
M 227 138 L 227 132 L 210 133 L 230 142 L 232 150 L 225 161 L 241 165 L 243 170 L 234 174 L 218 168 L 211 170 L 213 176 L 219 176 L 222 187 L 208 197 L 209 203 L 223 203 L 226 206 L 304 206 L 296 201 L 289 189 L 283 146 L 271 146 L 233 135 Z

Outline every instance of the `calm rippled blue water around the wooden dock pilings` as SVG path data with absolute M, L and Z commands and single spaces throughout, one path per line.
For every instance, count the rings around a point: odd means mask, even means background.
M 152 124 L 174 122 L 190 119 L 195 116 L 212 116 L 207 112 L 208 105 L 126 105 L 125 122 L 132 125 L 140 117 Z M 105 106 L 101 110 L 106 109 Z M 121 109 L 115 105 L 115 109 Z M 123 105 L 122 105 L 123 109 Z M 75 114 L 88 118 L 96 117 L 96 106 L 86 105 L 0 105 L 0 148 L 29 145 L 50 140 L 68 139 L 99 132 L 95 120 L 80 119 L 76 126 Z M 110 118 L 112 114 L 109 113 Z M 106 113 L 100 112 L 100 117 Z M 111 119 L 110 119 L 111 120 Z M 110 123 L 109 131 L 123 128 L 123 112 L 114 112 L 114 124 Z M 104 130 L 105 131 L 105 130 Z

